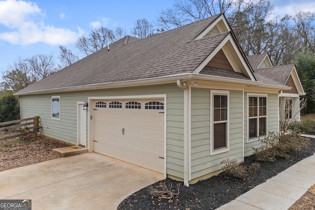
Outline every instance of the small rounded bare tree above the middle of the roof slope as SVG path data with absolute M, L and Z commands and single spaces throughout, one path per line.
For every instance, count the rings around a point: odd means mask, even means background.
M 146 19 L 139 19 L 134 23 L 134 27 L 131 30 L 132 35 L 137 38 L 144 39 L 154 34 L 153 25 Z

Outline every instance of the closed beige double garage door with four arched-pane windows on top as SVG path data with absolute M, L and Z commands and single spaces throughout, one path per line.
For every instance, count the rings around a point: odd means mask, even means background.
M 94 151 L 164 173 L 164 101 L 94 101 Z

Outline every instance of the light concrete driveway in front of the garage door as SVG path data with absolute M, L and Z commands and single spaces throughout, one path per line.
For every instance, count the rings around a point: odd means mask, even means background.
M 97 153 L 0 172 L 0 199 L 32 199 L 33 210 L 117 209 L 163 176 Z

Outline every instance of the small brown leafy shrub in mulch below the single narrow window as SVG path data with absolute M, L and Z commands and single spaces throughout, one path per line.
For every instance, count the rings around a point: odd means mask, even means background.
M 247 167 L 243 164 L 239 164 L 236 159 L 226 159 L 221 162 L 221 164 L 224 164 L 222 167 L 223 172 L 225 172 L 228 176 L 236 178 L 236 179 L 242 179 L 244 180 L 246 177 L 248 177 L 249 172 L 255 173 L 256 170 L 260 167 L 260 164 L 257 162 L 252 163 L 251 166 Z

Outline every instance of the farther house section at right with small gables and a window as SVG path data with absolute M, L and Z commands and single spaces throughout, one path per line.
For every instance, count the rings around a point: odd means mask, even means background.
M 294 118 L 293 120 L 300 121 L 300 97 L 306 93 L 304 92 L 295 65 L 274 66 L 267 53 L 247 56 L 247 59 L 256 74 L 265 75 L 269 79 L 291 87 L 291 90 L 279 91 L 280 120 Z M 287 110 L 284 111 L 285 109 Z M 295 117 L 294 113 L 296 113 Z

